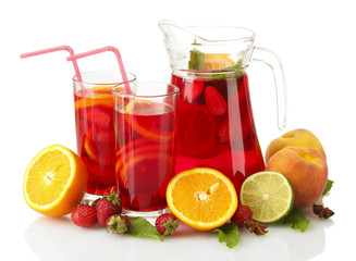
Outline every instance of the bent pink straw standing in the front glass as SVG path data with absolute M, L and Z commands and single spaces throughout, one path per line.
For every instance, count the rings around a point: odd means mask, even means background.
M 124 69 L 124 64 L 122 62 L 120 52 L 119 52 L 119 50 L 116 48 L 111 47 L 111 46 L 107 46 L 107 47 L 102 47 L 102 48 L 95 49 L 95 50 L 91 50 L 91 51 L 82 52 L 82 53 L 78 53 L 78 54 L 75 54 L 75 55 L 71 55 L 71 57 L 66 58 L 66 60 L 67 61 L 75 61 L 76 59 L 81 59 L 81 58 L 85 58 L 85 57 L 90 57 L 90 55 L 98 54 L 98 53 L 106 52 L 106 51 L 112 51 L 115 54 L 116 60 L 118 60 L 118 63 L 119 63 L 119 69 L 120 69 L 121 77 L 122 77 L 122 79 L 124 82 L 126 94 L 127 95 L 131 95 L 132 92 L 131 92 L 131 89 L 130 89 L 128 78 L 127 78 L 127 75 L 126 75 L 126 71 Z

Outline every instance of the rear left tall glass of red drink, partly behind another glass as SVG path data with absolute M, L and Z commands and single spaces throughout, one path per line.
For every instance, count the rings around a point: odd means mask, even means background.
M 95 199 L 116 190 L 112 88 L 123 79 L 119 71 L 81 75 L 81 82 L 73 77 L 77 152 L 89 173 L 86 198 Z

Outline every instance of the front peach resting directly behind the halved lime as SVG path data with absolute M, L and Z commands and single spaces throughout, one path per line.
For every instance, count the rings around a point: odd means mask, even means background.
M 280 172 L 289 179 L 296 208 L 317 202 L 328 183 L 327 161 L 310 148 L 285 147 L 270 158 L 266 170 Z

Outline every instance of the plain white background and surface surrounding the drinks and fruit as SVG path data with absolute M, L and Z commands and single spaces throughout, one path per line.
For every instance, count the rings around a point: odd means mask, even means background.
M 69 45 L 75 52 L 120 49 L 138 79 L 170 80 L 157 24 L 224 24 L 255 30 L 256 46 L 280 57 L 287 84 L 287 127 L 277 128 L 273 77 L 251 64 L 250 92 L 262 150 L 275 137 L 307 128 L 327 152 L 334 187 L 324 199 L 332 220 L 312 216 L 306 233 L 270 226 L 263 237 L 242 233 L 228 249 L 216 235 L 182 226 L 163 244 L 75 227 L 29 209 L 22 195 L 29 161 L 53 144 L 76 150 L 71 63 L 64 51 L 21 60 L 20 53 Z M 0 166 L 1 260 L 334 260 L 353 257 L 355 191 L 356 15 L 345 0 L 249 1 L 1 1 Z M 112 53 L 81 60 L 82 72 L 115 70 Z M 3 203 L 4 202 L 4 203 Z

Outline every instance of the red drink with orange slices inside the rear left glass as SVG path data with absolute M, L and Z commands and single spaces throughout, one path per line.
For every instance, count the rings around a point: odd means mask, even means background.
M 74 96 L 78 156 L 88 170 L 87 192 L 110 194 L 116 185 L 115 141 L 111 88 Z

